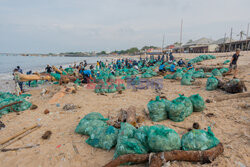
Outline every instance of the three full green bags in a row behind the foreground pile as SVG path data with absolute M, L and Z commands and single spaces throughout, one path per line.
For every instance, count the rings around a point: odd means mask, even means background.
M 199 95 L 185 97 L 180 95 L 178 98 L 170 101 L 160 99 L 151 100 L 148 105 L 150 119 L 154 122 L 160 122 L 171 119 L 175 122 L 184 121 L 192 112 L 201 112 L 205 109 L 204 99 Z

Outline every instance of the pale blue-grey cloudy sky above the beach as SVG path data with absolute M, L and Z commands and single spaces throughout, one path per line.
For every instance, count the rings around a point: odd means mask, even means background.
M 230 35 L 250 0 L 0 0 L 0 53 L 113 51 Z M 250 34 L 249 34 L 250 35 Z

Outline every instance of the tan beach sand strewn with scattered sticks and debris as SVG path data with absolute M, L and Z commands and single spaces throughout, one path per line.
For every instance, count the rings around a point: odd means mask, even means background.
M 181 57 L 194 58 L 199 54 L 185 54 Z M 218 55 L 215 60 L 207 60 L 201 64 L 223 63 L 228 57 L 225 54 Z M 239 78 L 246 80 L 246 86 L 250 89 L 250 53 L 243 54 L 239 58 Z M 179 56 L 176 54 L 176 56 Z M 163 77 L 156 77 L 162 79 Z M 227 76 L 232 78 L 232 76 Z M 175 99 L 179 94 L 190 96 L 199 93 L 205 100 L 226 95 L 221 90 L 206 91 L 205 84 L 207 79 L 197 79 L 202 82 L 200 86 L 182 86 L 180 81 L 163 81 L 162 92 L 169 100 Z M 55 90 L 58 86 L 52 86 L 49 89 Z M 0 141 L 22 131 L 23 128 L 34 124 L 41 124 L 42 127 L 32 132 L 21 140 L 11 144 L 7 148 L 23 147 L 27 145 L 40 144 L 40 146 L 19 151 L 0 152 L 1 167 L 101 167 L 112 160 L 114 149 L 106 151 L 93 148 L 85 143 L 87 136 L 81 136 L 74 133 L 74 130 L 86 114 L 90 112 L 100 112 L 104 117 L 116 116 L 121 108 L 128 108 L 130 105 L 136 106 L 137 114 L 144 116 L 143 109 L 147 108 L 147 103 L 154 99 L 157 93 L 154 89 L 133 91 L 125 90 L 122 94 L 107 94 L 107 96 L 97 95 L 93 89 L 80 88 L 76 94 L 66 94 L 59 100 L 60 106 L 49 104 L 51 97 L 42 97 L 41 90 L 32 90 L 31 102 L 38 105 L 36 110 L 26 110 L 4 115 L 1 121 L 6 125 L 0 130 Z M 75 111 L 64 111 L 62 108 L 67 103 L 79 105 L 81 108 Z M 249 104 L 250 98 L 240 98 L 225 100 L 222 102 L 206 103 L 206 109 L 203 112 L 192 113 L 183 122 L 173 122 L 165 120 L 162 122 L 152 122 L 145 119 L 144 125 L 162 124 L 173 128 L 181 136 L 187 131 L 181 126 L 190 128 L 194 122 L 198 122 L 201 128 L 211 126 L 215 136 L 223 143 L 224 153 L 216 158 L 211 164 L 202 166 L 245 166 L 250 165 L 250 111 L 243 109 L 241 104 Z M 48 109 L 49 114 L 44 114 Z M 215 116 L 207 117 L 206 114 L 213 113 Z M 43 140 L 41 136 L 47 130 L 52 131 L 50 139 Z M 74 151 L 75 145 L 79 154 Z M 190 162 L 171 162 L 171 166 L 195 167 L 201 166 L 200 163 Z M 134 165 L 145 166 L 145 164 Z

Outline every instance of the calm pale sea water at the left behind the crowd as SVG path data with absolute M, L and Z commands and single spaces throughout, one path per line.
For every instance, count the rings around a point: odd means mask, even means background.
M 79 64 L 84 60 L 88 64 L 96 63 L 97 60 L 106 60 L 103 57 L 65 57 L 65 56 L 22 56 L 22 55 L 4 55 L 0 54 L 0 91 L 11 91 L 13 90 L 13 70 L 20 66 L 23 73 L 26 74 L 28 71 L 42 72 L 45 71 L 47 64 L 55 66 L 74 65 Z

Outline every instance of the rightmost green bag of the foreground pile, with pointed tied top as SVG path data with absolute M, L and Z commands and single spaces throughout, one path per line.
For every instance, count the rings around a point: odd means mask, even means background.
M 208 127 L 208 131 L 193 129 L 184 134 L 181 139 L 181 146 L 185 151 L 208 150 L 219 143 L 220 141 L 214 136 L 210 127 Z

